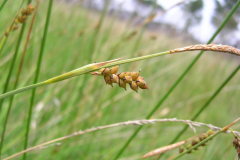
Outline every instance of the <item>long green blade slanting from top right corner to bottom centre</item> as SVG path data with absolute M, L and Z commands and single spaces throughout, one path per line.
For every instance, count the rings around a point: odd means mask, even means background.
M 218 35 L 218 33 L 223 29 L 223 27 L 226 25 L 228 20 L 231 18 L 233 13 L 238 9 L 240 5 L 240 0 L 237 2 L 237 4 L 233 7 L 231 12 L 227 15 L 225 20 L 222 22 L 222 24 L 219 26 L 217 31 L 213 34 L 211 39 L 208 41 L 208 44 L 211 43 L 215 37 Z M 201 51 L 196 58 L 191 62 L 191 64 L 187 67 L 187 69 L 183 72 L 183 74 L 177 79 L 177 81 L 172 85 L 172 87 L 169 89 L 169 91 L 163 96 L 163 98 L 157 103 L 157 105 L 153 108 L 153 110 L 147 115 L 146 119 L 149 119 L 155 111 L 160 108 L 162 103 L 167 99 L 167 97 L 170 95 L 170 93 L 176 88 L 176 86 L 181 82 L 181 80 L 184 78 L 184 76 L 188 73 L 188 71 L 192 68 L 192 66 L 196 63 L 196 61 L 201 57 L 204 51 Z M 128 139 L 128 141 L 124 144 L 124 146 L 120 149 L 117 156 L 114 159 L 118 159 L 121 154 L 124 152 L 124 150 L 127 148 L 129 143 L 134 139 L 134 137 L 137 135 L 137 133 L 142 129 L 142 126 L 138 127 L 137 130 L 132 134 L 132 136 Z

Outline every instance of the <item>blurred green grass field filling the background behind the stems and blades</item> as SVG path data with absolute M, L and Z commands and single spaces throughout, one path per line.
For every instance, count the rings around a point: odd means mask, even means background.
M 33 1 L 32 5 L 35 4 L 36 1 Z M 1 10 L 2 37 L 20 5 L 20 1 L 8 1 Z M 42 1 L 28 44 L 18 88 L 33 83 L 47 8 L 48 2 Z M 98 25 L 101 17 L 102 24 Z M 124 39 L 123 35 L 130 35 L 136 29 L 126 28 L 127 24 L 128 22 L 116 20 L 115 16 L 105 17 L 99 12 L 79 8 L 79 5 L 55 1 L 38 82 L 95 61 L 101 62 L 124 56 L 132 58 L 189 45 L 182 42 L 179 37 L 169 37 L 160 31 L 151 33 L 146 30 L 141 41 L 139 35 Z M 27 21 L 25 29 L 28 30 L 29 26 L 30 20 Z M 20 29 L 10 34 L 0 55 L 1 92 L 8 76 L 19 31 Z M 138 34 L 141 33 L 141 29 L 137 31 Z M 152 34 L 157 39 L 152 39 L 150 36 Z M 26 37 L 27 32 L 23 35 L 8 91 L 14 87 Z M 136 43 L 140 43 L 137 48 Z M 144 119 L 146 113 L 155 107 L 196 54 L 187 52 L 167 55 L 120 66 L 120 72 L 142 69 L 141 76 L 145 77 L 150 91 L 140 90 L 139 93 L 135 93 L 129 87 L 124 91 L 117 85 L 112 88 L 106 86 L 102 77 L 91 75 L 37 88 L 28 146 L 35 146 L 93 126 Z M 225 56 L 224 53 L 205 52 L 152 118 L 192 118 L 238 66 L 238 60 L 238 57 Z M 239 78 L 240 74 L 237 73 L 197 121 L 224 127 L 239 117 Z M 31 91 L 20 93 L 14 98 L 2 149 L 3 157 L 24 148 L 30 98 Z M 0 126 L 3 126 L 5 121 L 9 99 L 6 98 L 3 103 Z M 27 158 L 112 159 L 137 127 L 123 126 L 80 135 L 62 141 L 61 145 L 29 152 Z M 148 124 L 142 128 L 120 158 L 140 159 L 148 151 L 168 145 L 183 128 L 182 124 L 170 122 Z M 233 127 L 234 130 L 239 128 L 240 125 Z M 207 129 L 198 128 L 197 134 L 206 132 Z M 0 131 L 2 132 L 2 127 Z M 180 139 L 184 140 L 191 136 L 194 136 L 194 132 L 188 129 Z M 218 136 L 206 147 L 185 155 L 182 159 L 234 159 L 236 151 L 232 147 L 232 140 L 231 136 Z M 166 153 L 162 159 L 170 157 L 175 152 L 177 151 Z

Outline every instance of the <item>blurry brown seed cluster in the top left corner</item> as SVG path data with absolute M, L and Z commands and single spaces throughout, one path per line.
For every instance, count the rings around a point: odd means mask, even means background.
M 34 11 L 35 7 L 33 7 L 31 4 L 29 4 L 27 6 L 27 9 L 22 9 L 21 11 L 21 16 L 18 16 L 15 21 L 14 21 L 14 25 L 12 26 L 12 31 L 15 31 L 18 29 L 18 24 L 21 23 L 25 23 L 27 21 L 27 18 L 29 15 L 31 15 Z M 8 36 L 9 35 L 9 31 L 6 31 L 5 32 L 5 36 Z

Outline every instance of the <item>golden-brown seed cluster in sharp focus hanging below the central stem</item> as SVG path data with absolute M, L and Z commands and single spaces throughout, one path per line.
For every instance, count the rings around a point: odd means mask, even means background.
M 138 72 L 121 72 L 117 74 L 119 66 L 112 68 L 102 68 L 98 72 L 92 72 L 92 75 L 103 75 L 106 84 L 113 86 L 113 83 L 117 83 L 119 87 L 127 87 L 127 83 L 130 85 L 131 89 L 138 92 L 138 88 L 148 89 L 147 83 L 144 81 L 144 78 L 139 76 L 140 71 Z

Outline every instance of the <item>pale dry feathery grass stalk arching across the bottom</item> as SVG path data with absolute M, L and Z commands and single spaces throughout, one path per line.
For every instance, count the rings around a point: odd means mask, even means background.
M 190 125 L 191 128 L 193 128 L 193 126 L 198 126 L 198 127 L 207 126 L 207 127 L 211 128 L 212 130 L 217 130 L 217 131 L 221 130 L 221 128 L 213 126 L 211 124 L 194 122 L 194 121 L 190 121 L 190 120 L 179 120 L 179 119 L 176 119 L 176 118 L 172 118 L 172 119 L 150 119 L 150 120 L 144 119 L 144 120 L 128 121 L 128 122 L 115 123 L 115 124 L 111 124 L 111 125 L 107 125 L 107 126 L 92 127 L 91 129 L 87 129 L 87 130 L 84 130 L 84 131 L 80 130 L 80 131 L 75 132 L 71 135 L 67 135 L 67 136 L 64 136 L 64 137 L 61 137 L 61 138 L 57 138 L 57 139 L 48 141 L 46 143 L 42 143 L 40 145 L 37 145 L 35 147 L 31 147 L 29 149 L 23 150 L 23 151 L 18 152 L 18 153 L 14 154 L 10 157 L 5 158 L 4 160 L 12 159 L 12 158 L 17 157 L 17 156 L 19 156 L 21 154 L 24 154 L 26 152 L 30 152 L 30 151 L 42 148 L 43 146 L 46 146 L 46 145 L 49 145 L 49 144 L 52 144 L 52 143 L 56 143 L 58 141 L 62 141 L 62 140 L 65 140 L 65 139 L 68 139 L 68 138 L 71 138 L 71 137 L 78 136 L 78 135 L 82 135 L 82 134 L 85 134 L 85 133 L 89 133 L 89 132 L 93 132 L 93 131 L 97 131 L 97 130 L 101 130 L 101 129 L 106 129 L 106 128 L 111 128 L 111 127 L 116 127 L 116 126 L 121 126 L 121 125 L 144 125 L 144 124 L 154 124 L 154 122 L 182 122 L 182 123 Z M 231 131 L 228 130 L 228 131 L 226 131 L 226 133 L 231 133 Z M 234 131 L 234 133 L 236 135 L 240 136 L 239 132 Z M 179 142 L 179 144 L 180 144 L 180 142 Z

